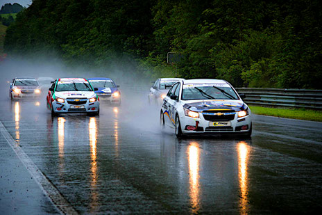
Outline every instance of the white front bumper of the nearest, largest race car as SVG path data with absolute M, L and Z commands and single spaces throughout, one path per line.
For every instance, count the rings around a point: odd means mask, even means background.
M 180 124 L 183 134 L 246 134 L 251 130 L 251 116 L 238 118 L 236 113 L 232 120 L 210 121 L 205 120 L 203 114 L 199 113 L 199 118 L 180 117 Z

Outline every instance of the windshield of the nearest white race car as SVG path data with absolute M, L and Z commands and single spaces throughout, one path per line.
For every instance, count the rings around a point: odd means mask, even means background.
M 183 100 L 239 99 L 227 83 L 198 83 L 183 85 Z

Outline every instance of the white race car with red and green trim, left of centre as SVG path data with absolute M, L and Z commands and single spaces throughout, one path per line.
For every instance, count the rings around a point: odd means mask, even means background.
M 99 97 L 87 79 L 63 78 L 53 81 L 46 97 L 51 115 L 59 113 L 88 113 L 99 115 Z

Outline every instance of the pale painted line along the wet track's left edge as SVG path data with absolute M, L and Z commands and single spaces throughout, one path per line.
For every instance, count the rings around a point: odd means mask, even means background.
M 78 214 L 76 210 L 71 207 L 69 202 L 62 196 L 62 194 L 56 189 L 56 187 L 47 180 L 46 176 L 42 173 L 42 171 L 37 168 L 37 166 L 33 163 L 33 161 L 28 157 L 28 155 L 22 150 L 22 148 L 16 144 L 15 140 L 6 130 L 6 127 L 3 126 L 0 121 L 0 131 L 4 138 L 6 138 L 7 143 L 10 145 L 12 150 L 17 154 L 22 164 L 27 168 L 29 173 L 35 179 L 35 182 L 40 186 L 40 189 L 44 192 L 44 194 L 53 202 L 53 205 L 56 206 L 58 211 L 61 214 Z

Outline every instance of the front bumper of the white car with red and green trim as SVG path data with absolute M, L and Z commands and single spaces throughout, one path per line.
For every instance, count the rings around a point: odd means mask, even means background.
M 53 111 L 55 113 L 94 113 L 99 111 L 99 102 L 90 102 L 87 99 L 85 104 L 69 104 L 65 102 L 52 102 Z

